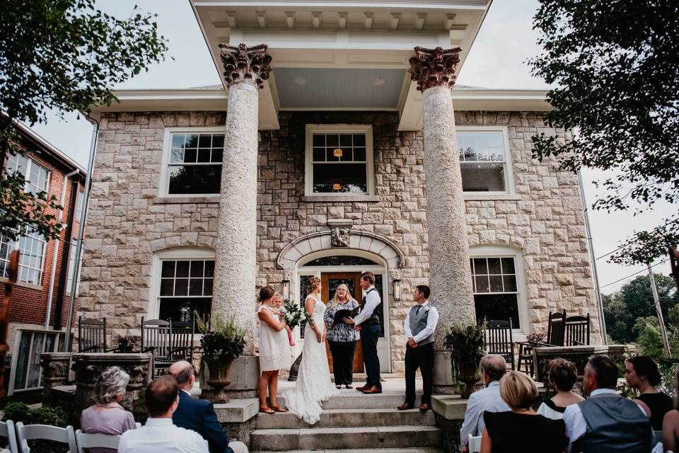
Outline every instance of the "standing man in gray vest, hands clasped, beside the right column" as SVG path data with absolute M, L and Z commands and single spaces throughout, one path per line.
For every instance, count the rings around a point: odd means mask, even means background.
M 434 383 L 434 331 L 439 323 L 439 312 L 431 306 L 429 287 L 417 285 L 412 290 L 412 299 L 416 303 L 410 307 L 405 316 L 405 336 L 408 344 L 405 347 L 405 403 L 398 406 L 399 411 L 412 409 L 415 404 L 415 372 L 419 368 L 422 373 L 422 401 L 419 410 L 429 411 L 431 408 L 431 386 Z

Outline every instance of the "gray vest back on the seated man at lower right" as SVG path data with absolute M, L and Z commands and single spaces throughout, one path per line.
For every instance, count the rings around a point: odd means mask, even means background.
M 574 452 L 651 451 L 651 422 L 634 401 L 617 394 L 598 394 L 578 406 L 587 432 L 575 442 Z

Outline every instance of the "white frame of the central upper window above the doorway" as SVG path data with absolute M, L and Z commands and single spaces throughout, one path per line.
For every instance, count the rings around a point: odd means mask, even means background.
M 313 134 L 366 134 L 366 193 L 317 193 L 313 191 Z M 306 125 L 304 195 L 307 197 L 370 197 L 375 195 L 372 125 Z

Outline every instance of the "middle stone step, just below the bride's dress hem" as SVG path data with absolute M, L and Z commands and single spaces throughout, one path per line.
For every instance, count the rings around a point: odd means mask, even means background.
M 258 430 L 286 428 L 359 428 L 361 426 L 433 426 L 436 418 L 433 411 L 420 413 L 417 409 L 398 411 L 395 408 L 382 409 L 332 409 L 323 411 L 320 421 L 307 425 L 292 413 L 269 415 L 257 414 Z

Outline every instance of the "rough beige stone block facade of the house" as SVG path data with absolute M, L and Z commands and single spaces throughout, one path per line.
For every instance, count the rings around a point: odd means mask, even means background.
M 412 305 L 407 294 L 429 274 L 422 132 L 397 132 L 398 119 L 397 113 L 279 113 L 279 130 L 260 131 L 257 190 L 257 285 L 292 280 L 277 267 L 279 253 L 300 236 L 327 231 L 333 219 L 351 219 L 352 231 L 383 236 L 400 248 L 405 262 L 397 273 L 404 297 L 388 301 L 394 372 L 403 369 L 402 320 Z M 88 315 L 107 317 L 113 333 L 138 328 L 141 316 L 149 316 L 156 297 L 151 294 L 154 252 L 215 246 L 218 199 L 168 202 L 158 197 L 164 128 L 219 126 L 225 120 L 224 113 L 205 112 L 103 114 L 80 305 Z M 592 342 L 600 343 L 578 178 L 551 162 L 531 159 L 535 132 L 563 139 L 569 134 L 545 127 L 542 113 L 462 111 L 455 112 L 455 122 L 509 130 L 516 196 L 465 201 L 472 251 L 480 244 L 521 251 L 531 324 L 526 331 L 546 330 L 548 312 L 565 308 L 591 314 Z M 373 126 L 373 200 L 304 197 L 307 124 Z

